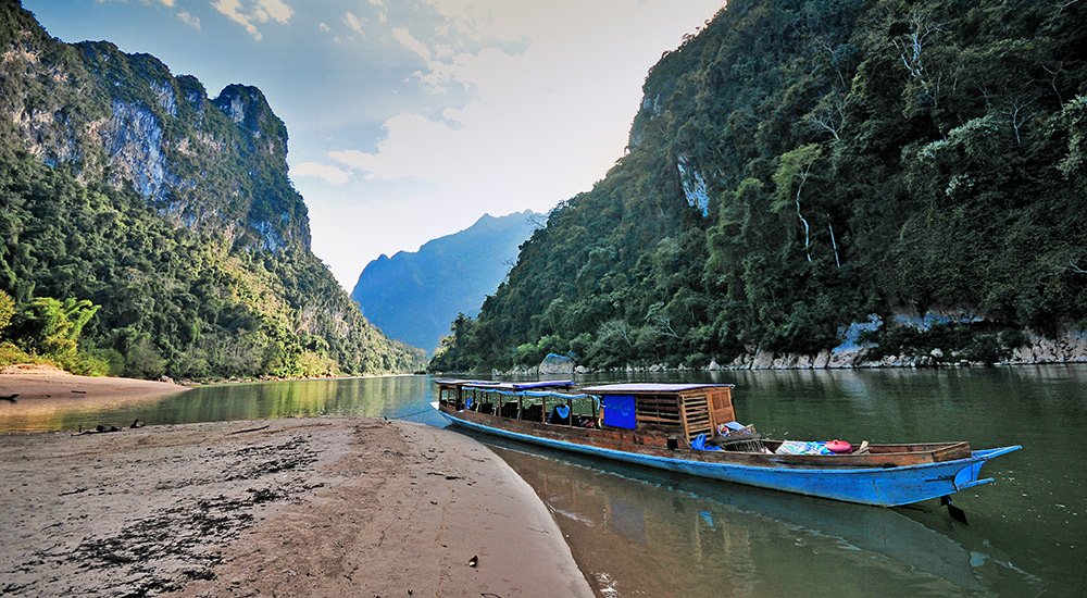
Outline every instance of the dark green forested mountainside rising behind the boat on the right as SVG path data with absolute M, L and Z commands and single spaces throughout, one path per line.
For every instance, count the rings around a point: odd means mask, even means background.
M 1065 0 L 728 2 L 430 369 L 814 354 L 867 314 L 884 351 L 982 359 L 1083 329 L 1085 34 Z

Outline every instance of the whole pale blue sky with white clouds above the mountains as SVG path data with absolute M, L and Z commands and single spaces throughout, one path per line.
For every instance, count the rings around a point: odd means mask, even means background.
M 592 188 L 641 84 L 722 0 L 24 0 L 108 40 L 259 87 L 287 126 L 313 252 L 350 291 L 382 253 Z

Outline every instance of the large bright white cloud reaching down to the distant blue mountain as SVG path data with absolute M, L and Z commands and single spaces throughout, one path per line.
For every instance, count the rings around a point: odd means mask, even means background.
M 591 188 L 624 153 L 649 67 L 721 8 L 711 0 L 426 3 L 445 16 L 439 26 L 390 13 L 395 39 L 426 63 L 412 80 L 432 98 L 455 87 L 475 99 L 440 116 L 409 104 L 386 121 L 375 149 L 328 152 L 359 173 L 346 187 L 350 201 L 302 189 L 314 251 L 348 288 L 379 253 L 414 250 L 484 212 L 545 212 Z

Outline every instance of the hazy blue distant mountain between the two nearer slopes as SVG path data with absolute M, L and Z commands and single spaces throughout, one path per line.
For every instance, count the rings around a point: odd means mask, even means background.
M 535 229 L 532 210 L 495 217 L 427 241 L 415 252 L 366 264 L 351 298 L 390 338 L 433 351 L 458 313 L 475 317 Z

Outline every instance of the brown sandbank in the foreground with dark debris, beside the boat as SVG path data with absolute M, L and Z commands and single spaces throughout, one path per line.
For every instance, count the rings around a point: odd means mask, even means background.
M 0 594 L 591 596 L 454 432 L 318 418 L 0 436 Z

